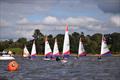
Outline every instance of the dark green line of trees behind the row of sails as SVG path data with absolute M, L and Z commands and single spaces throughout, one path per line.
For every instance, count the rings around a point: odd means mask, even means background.
M 45 36 L 40 32 L 39 29 L 34 31 L 32 37 L 34 37 L 36 50 L 38 54 L 44 54 L 44 46 L 45 46 Z M 109 49 L 112 51 L 113 54 L 120 54 L 120 33 L 112 33 L 112 34 L 105 34 L 104 35 L 108 44 Z M 63 41 L 64 41 L 64 34 L 58 34 L 55 37 L 53 35 L 48 35 L 48 41 L 50 43 L 51 49 L 53 50 L 55 38 L 58 41 L 58 47 L 60 52 L 63 50 Z M 70 50 L 71 53 L 78 53 L 78 46 L 79 46 L 79 39 L 82 38 L 82 42 L 84 48 L 88 54 L 99 54 L 101 49 L 101 33 L 95 33 L 93 35 L 84 35 L 83 32 L 77 33 L 73 32 L 69 35 L 70 37 Z M 31 52 L 33 40 L 27 40 L 26 38 L 19 38 L 17 41 L 5 40 L 0 41 L 0 51 L 4 49 L 11 49 L 11 48 L 20 48 L 23 49 L 24 45 L 27 46 L 29 52 Z

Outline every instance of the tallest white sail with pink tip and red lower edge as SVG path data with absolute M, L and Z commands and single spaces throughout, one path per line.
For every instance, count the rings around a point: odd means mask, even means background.
M 63 44 L 63 56 L 69 54 L 70 54 L 70 43 L 69 43 L 68 25 L 66 25 L 64 44 Z

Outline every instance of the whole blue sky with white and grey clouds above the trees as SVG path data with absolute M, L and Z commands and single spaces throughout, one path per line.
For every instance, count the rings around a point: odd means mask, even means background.
M 120 32 L 120 0 L 0 0 L 0 40 L 44 35 Z

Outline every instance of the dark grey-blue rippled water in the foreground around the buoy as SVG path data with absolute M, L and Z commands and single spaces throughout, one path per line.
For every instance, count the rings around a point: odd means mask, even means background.
M 0 80 L 120 80 L 120 57 L 70 57 L 65 64 L 42 59 L 16 57 L 15 72 L 6 70 L 10 61 L 0 61 Z

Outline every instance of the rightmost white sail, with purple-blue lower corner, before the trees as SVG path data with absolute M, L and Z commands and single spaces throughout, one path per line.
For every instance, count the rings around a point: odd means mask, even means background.
M 102 44 L 101 44 L 101 55 L 110 53 L 110 50 L 108 49 L 108 46 L 106 44 L 106 39 L 104 36 L 102 36 Z

